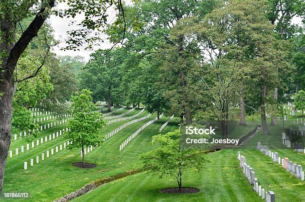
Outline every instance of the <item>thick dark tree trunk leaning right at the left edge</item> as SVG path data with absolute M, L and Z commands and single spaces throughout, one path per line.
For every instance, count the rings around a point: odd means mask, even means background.
M 49 0 L 49 7 L 55 0 Z M 0 21 L 0 194 L 3 187 L 4 168 L 11 139 L 12 97 L 14 88 L 13 73 L 20 55 L 30 41 L 37 36 L 39 29 L 46 20 L 45 7 L 42 7 L 29 26 L 15 42 L 16 24 L 11 13 L 2 13 Z M 17 82 L 17 81 L 16 81 Z

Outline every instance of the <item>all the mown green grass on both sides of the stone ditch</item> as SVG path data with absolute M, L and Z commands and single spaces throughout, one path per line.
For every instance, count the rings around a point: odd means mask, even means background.
M 116 115 L 127 110 L 129 109 L 123 109 L 117 112 Z M 132 116 L 141 110 L 141 108 L 135 109 L 125 116 Z M 148 112 L 144 111 L 133 119 L 144 117 L 147 114 Z M 145 128 L 122 151 L 119 150 L 119 146 L 138 128 L 155 117 L 156 114 L 153 114 L 145 120 L 129 125 L 107 139 L 102 146 L 94 148 L 93 151 L 85 156 L 86 162 L 97 164 L 97 167 L 93 169 L 81 169 L 71 165 L 81 161 L 80 149 L 72 151 L 64 149 L 54 155 L 50 155 L 49 158 L 45 156 L 45 160 L 41 161 L 41 153 L 46 153 L 51 148 L 55 150 L 55 146 L 67 141 L 63 138 L 64 135 L 51 141 L 48 140 L 39 146 L 35 145 L 34 148 L 30 146 L 29 151 L 26 151 L 25 147 L 24 153 L 20 153 L 19 149 L 18 156 L 14 155 L 15 148 L 20 148 L 21 145 L 26 146 L 26 142 L 24 139 L 13 140 L 10 146 L 10 150 L 13 151 L 13 158 L 8 157 L 7 159 L 3 192 L 29 192 L 30 199 L 28 201 L 49 202 L 69 194 L 96 179 L 139 168 L 142 165 L 139 156 L 155 147 L 150 144 L 152 136 L 159 134 L 159 128 L 169 117 L 163 116 L 160 120 Z M 133 119 L 105 126 L 100 134 L 105 135 Z M 178 123 L 179 118 L 174 117 L 161 133 L 177 129 Z M 52 135 L 53 132 L 65 127 L 66 124 L 62 124 L 43 130 L 35 140 L 49 134 Z M 253 128 L 254 125 L 250 123 L 247 127 L 238 126 L 233 135 L 240 137 Z M 281 157 L 288 157 L 292 161 L 305 166 L 304 154 L 291 149 L 283 149 L 285 147 L 282 145 L 281 127 L 269 126 L 269 129 L 271 135 L 264 136 L 260 131 L 249 144 L 256 147 L 259 140 L 262 144 L 272 142 L 274 147 L 272 145 L 269 147 L 272 151 L 278 152 Z M 161 194 L 159 191 L 163 188 L 176 187 L 176 181 L 165 178 L 159 179 L 156 176 L 148 176 L 145 173 L 141 173 L 103 185 L 74 201 L 101 201 L 101 199 L 102 201 L 261 201 L 258 195 L 253 192 L 252 187 L 239 167 L 239 161 L 236 159 L 237 151 L 241 151 L 242 155 L 246 156 L 247 163 L 254 169 L 259 184 L 266 191 L 275 192 L 277 201 L 305 201 L 304 181 L 302 182 L 291 175 L 262 152 L 244 148 L 210 153 L 208 156 L 211 162 L 206 165 L 205 170 L 187 173 L 183 186 L 199 189 L 200 192 L 197 194 Z M 40 158 L 39 164 L 34 162 L 33 167 L 31 167 L 29 160 L 31 158 L 35 160 L 36 156 Z M 23 170 L 24 161 L 28 162 L 26 171 Z M 0 201 L 4 200 L 0 199 Z

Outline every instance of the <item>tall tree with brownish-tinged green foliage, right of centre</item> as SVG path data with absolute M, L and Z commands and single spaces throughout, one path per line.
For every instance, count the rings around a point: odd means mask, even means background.
M 231 107 L 226 103 L 234 101 L 234 87 L 253 78 L 252 83 L 260 89 L 262 125 L 264 134 L 268 134 L 265 104 L 270 100 L 270 88 L 278 85 L 278 70 L 287 67 L 287 62 L 281 41 L 275 38 L 264 9 L 262 1 L 230 0 L 196 26 L 199 27 L 202 50 L 207 52 L 211 68 L 215 68 L 205 74 L 207 81 L 203 82 L 209 90 L 216 86 L 210 94 L 212 97 L 218 95 L 214 98 L 214 107 L 218 106 L 218 111 L 222 111 L 221 119 L 227 119 L 228 110 L 234 107 L 234 102 Z M 279 60 L 282 63 L 279 64 Z M 211 85 L 208 76 L 213 74 L 216 83 Z M 227 90 L 230 92 L 225 94 Z M 244 88 L 240 89 L 239 98 L 243 91 Z

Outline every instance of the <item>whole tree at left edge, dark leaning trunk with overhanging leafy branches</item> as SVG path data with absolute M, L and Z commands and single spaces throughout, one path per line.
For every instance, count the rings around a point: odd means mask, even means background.
M 78 30 L 70 32 L 71 38 L 68 40 L 71 49 L 76 48 L 84 42 L 99 43 L 101 37 L 98 34 L 90 37 L 91 30 L 101 30 L 107 24 L 106 10 L 109 4 L 116 5 L 115 8 L 123 11 L 121 0 L 63 0 L 70 6 L 64 11 L 54 10 L 60 16 L 75 17 L 79 12 L 85 14 L 78 26 Z M 6 157 L 11 139 L 11 119 L 12 119 L 12 98 L 20 78 L 16 80 L 14 73 L 21 54 L 29 45 L 30 41 L 39 34 L 39 30 L 50 15 L 55 0 L 5 0 L 0 1 L 0 193 L 3 187 L 3 175 L 6 164 Z M 16 35 L 20 21 L 30 17 L 30 23 L 25 29 L 21 29 L 20 36 Z M 122 18 L 121 18 L 122 19 Z M 124 19 L 124 18 L 123 18 Z M 101 33 L 100 33 L 101 34 Z M 89 48 L 92 43 L 89 43 Z M 33 75 L 42 68 L 38 65 Z

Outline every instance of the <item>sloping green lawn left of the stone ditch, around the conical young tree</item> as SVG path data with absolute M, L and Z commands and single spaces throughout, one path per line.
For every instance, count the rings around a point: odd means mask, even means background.
M 135 110 L 130 115 L 140 111 Z M 140 116 L 134 119 L 147 115 L 148 112 L 143 112 Z M 63 136 L 54 140 L 35 146 L 33 149 L 25 153 L 19 153 L 18 156 L 7 159 L 4 189 L 3 192 L 29 192 L 31 195 L 30 201 L 52 201 L 65 194 L 73 192 L 85 184 L 99 178 L 122 173 L 139 167 L 139 154 L 152 149 L 150 144 L 152 135 L 158 134 L 158 129 L 167 120 L 168 117 L 162 117 L 152 125 L 143 130 L 132 142 L 130 142 L 124 150 L 119 151 L 120 144 L 139 127 L 146 122 L 155 118 L 156 115 L 134 123 L 129 127 L 124 128 L 113 137 L 106 140 L 104 145 L 95 148 L 92 152 L 86 155 L 86 162 L 97 164 L 94 169 L 81 169 L 71 166 L 74 162 L 80 162 L 80 149 L 72 151 L 63 150 L 50 158 L 46 158 L 39 164 L 29 166 L 29 160 L 35 159 L 36 156 L 41 157 L 42 152 L 46 152 L 54 148 L 58 144 L 62 144 Z M 132 120 L 132 119 L 130 119 Z M 123 125 L 126 121 L 120 121 L 104 127 L 101 130 L 102 134 L 107 134 L 109 131 Z M 177 128 L 177 120 L 172 120 L 172 123 L 163 129 L 162 132 L 168 132 Z M 42 131 L 40 135 L 45 135 L 47 130 Z M 50 131 L 52 134 L 52 131 Z M 23 141 L 23 142 L 22 142 Z M 19 147 L 24 145 L 23 139 L 12 142 L 11 147 Z M 28 162 L 28 169 L 23 170 L 23 162 Z

